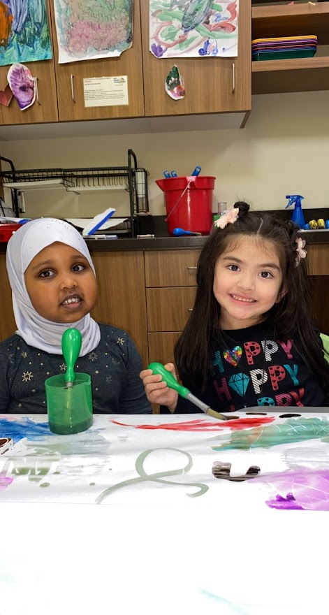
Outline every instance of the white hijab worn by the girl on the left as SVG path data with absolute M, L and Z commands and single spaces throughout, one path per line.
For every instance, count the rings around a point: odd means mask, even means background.
M 68 222 L 54 218 L 39 218 L 21 226 L 10 237 L 7 246 L 7 271 L 13 291 L 16 333 L 29 346 L 34 346 L 49 354 L 61 354 L 61 336 L 67 328 L 75 327 L 82 335 L 80 356 L 85 356 L 98 346 L 101 339 L 99 326 L 90 314 L 71 324 L 47 320 L 34 310 L 25 286 L 24 273 L 29 263 L 36 254 L 55 241 L 70 245 L 81 252 L 95 273 L 85 240 Z

